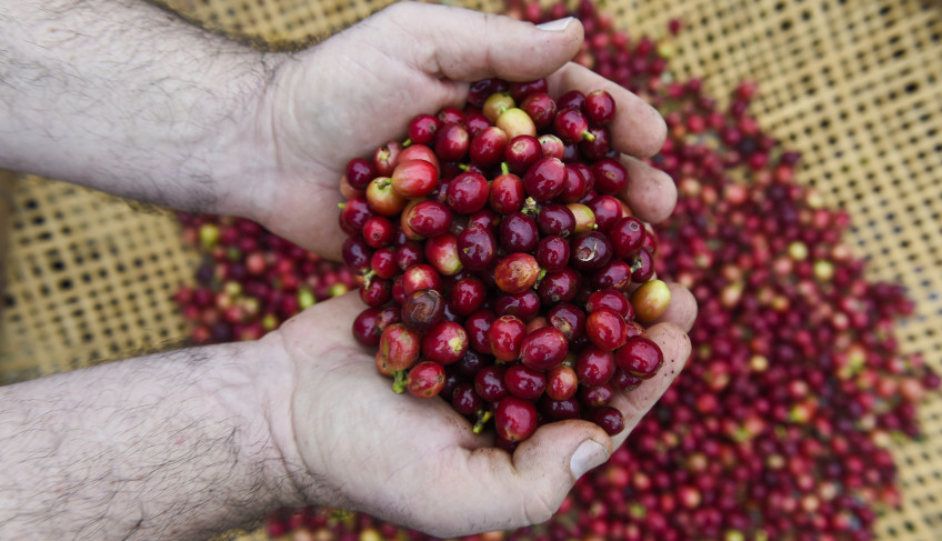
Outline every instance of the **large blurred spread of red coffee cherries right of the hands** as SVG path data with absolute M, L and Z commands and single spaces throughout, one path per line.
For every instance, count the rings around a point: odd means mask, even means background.
M 590 1 L 573 12 L 511 0 L 507 11 L 575 14 L 587 37 L 577 60 L 663 112 L 669 139 L 650 163 L 679 201 L 655 226 L 655 269 L 690 288 L 700 314 L 684 372 L 552 520 L 462 541 L 873 539 L 880 512 L 900 503 L 890 442 L 919 437 L 916 405 L 940 384 L 898 344 L 912 302 L 868 280 L 843 240 L 851 217 L 798 183 L 800 154 L 749 113 L 755 82 L 721 106 L 672 71 L 680 21 L 654 39 L 628 36 Z M 431 539 L 322 508 L 267 525 L 298 541 Z

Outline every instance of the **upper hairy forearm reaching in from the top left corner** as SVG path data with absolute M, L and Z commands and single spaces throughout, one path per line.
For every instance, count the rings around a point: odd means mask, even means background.
M 0 3 L 0 167 L 241 213 L 227 138 L 270 59 L 143 0 Z

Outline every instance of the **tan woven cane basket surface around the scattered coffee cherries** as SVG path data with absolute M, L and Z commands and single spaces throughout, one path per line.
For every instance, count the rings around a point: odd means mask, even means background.
M 290 48 L 389 0 L 168 3 L 210 29 Z M 501 9 L 490 0 L 463 6 Z M 661 34 L 669 19 L 682 18 L 672 67 L 703 77 L 711 94 L 760 81 L 752 110 L 803 153 L 799 180 L 850 213 L 868 275 L 905 285 L 916 301 L 916 315 L 898 327 L 903 350 L 942 370 L 942 4 L 625 0 L 604 8 L 632 34 Z M 192 280 L 197 256 L 181 246 L 169 213 L 23 177 L 9 244 L 0 383 L 186 337 L 170 295 Z M 881 518 L 884 540 L 942 539 L 942 397 L 920 412 L 924 441 L 894 444 L 903 507 Z

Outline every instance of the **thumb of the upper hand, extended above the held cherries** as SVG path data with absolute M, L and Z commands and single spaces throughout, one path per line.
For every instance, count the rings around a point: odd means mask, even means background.
M 400 49 L 425 73 L 457 81 L 499 77 L 529 81 L 561 68 L 579 52 L 582 23 L 560 19 L 537 27 L 493 13 L 418 2 L 398 2 L 378 14 L 383 48 Z M 387 32 L 402 34 L 389 39 Z

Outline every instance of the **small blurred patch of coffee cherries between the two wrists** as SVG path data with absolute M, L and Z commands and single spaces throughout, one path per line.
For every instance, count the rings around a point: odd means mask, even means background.
M 182 212 L 183 242 L 200 256 L 194 284 L 174 293 L 197 344 L 255 340 L 315 302 L 359 285 L 343 264 L 243 218 Z

